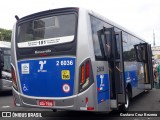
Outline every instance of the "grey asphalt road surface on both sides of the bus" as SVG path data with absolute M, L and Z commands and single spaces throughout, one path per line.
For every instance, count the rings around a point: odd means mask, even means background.
M 23 108 L 14 107 L 13 98 L 11 91 L 0 92 L 0 111 L 46 111 L 46 109 L 35 109 L 35 108 Z M 75 112 L 75 111 L 58 111 L 46 112 L 44 115 L 50 116 L 46 118 L 23 118 L 29 120 L 84 120 L 84 119 L 98 119 L 98 120 L 159 120 L 160 117 L 119 117 L 120 113 L 118 111 L 113 111 L 111 113 L 94 113 L 94 112 Z M 142 93 L 135 97 L 130 104 L 129 111 L 133 113 L 139 113 L 139 111 L 160 111 L 160 90 L 153 89 L 150 92 Z M 153 112 L 154 113 L 154 112 Z M 157 113 L 157 112 L 155 112 Z M 159 113 L 160 114 L 160 113 Z M 114 116 L 114 117 L 110 117 Z M 8 118 L 0 118 L 0 120 L 8 120 Z M 10 118 L 15 120 L 21 120 L 22 118 Z

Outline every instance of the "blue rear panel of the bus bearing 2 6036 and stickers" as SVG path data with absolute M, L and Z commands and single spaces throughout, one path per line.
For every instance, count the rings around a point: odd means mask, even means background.
M 74 92 L 75 58 L 18 62 L 22 92 L 37 97 L 67 97 Z

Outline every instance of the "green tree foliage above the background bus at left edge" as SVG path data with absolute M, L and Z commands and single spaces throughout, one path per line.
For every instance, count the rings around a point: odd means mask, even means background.
M 11 30 L 6 30 L 3 28 L 0 28 L 0 41 L 11 41 L 11 34 L 12 31 Z

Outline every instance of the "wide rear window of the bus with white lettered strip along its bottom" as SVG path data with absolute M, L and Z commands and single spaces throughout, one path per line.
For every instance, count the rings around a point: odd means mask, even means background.
M 57 45 L 73 41 L 76 15 L 63 14 L 34 18 L 18 24 L 18 48 Z

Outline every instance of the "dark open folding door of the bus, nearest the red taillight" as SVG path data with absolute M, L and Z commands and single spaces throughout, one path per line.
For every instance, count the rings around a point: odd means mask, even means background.
M 108 54 L 111 108 L 117 109 L 118 104 L 126 103 L 122 32 L 115 33 L 114 28 L 104 28 L 104 31 L 106 52 L 108 52 L 108 44 L 110 44 L 111 48 L 111 52 Z

